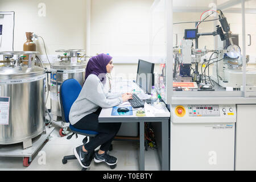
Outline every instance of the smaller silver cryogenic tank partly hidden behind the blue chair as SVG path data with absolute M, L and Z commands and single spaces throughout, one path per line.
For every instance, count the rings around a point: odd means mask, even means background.
M 64 52 L 64 56 L 58 56 L 61 61 L 51 65 L 51 114 L 53 121 L 62 121 L 59 104 L 60 85 L 70 78 L 75 78 L 82 85 L 85 81 L 86 61 L 80 60 L 85 58 L 80 56 L 80 52 L 84 52 L 82 49 L 61 49 L 56 52 Z

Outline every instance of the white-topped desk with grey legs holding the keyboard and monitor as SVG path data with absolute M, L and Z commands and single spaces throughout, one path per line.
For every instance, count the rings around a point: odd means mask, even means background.
M 169 170 L 169 120 L 170 117 L 137 117 L 136 111 L 133 111 L 133 115 L 111 115 L 112 108 L 103 108 L 98 117 L 98 122 L 139 122 L 139 170 L 144 171 L 144 123 L 145 122 L 161 122 L 161 139 L 162 144 L 158 150 L 162 171 Z M 159 145 L 158 145 L 159 146 Z

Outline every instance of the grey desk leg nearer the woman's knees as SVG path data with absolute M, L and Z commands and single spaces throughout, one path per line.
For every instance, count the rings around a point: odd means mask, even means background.
M 144 122 L 139 122 L 139 170 L 145 170 Z

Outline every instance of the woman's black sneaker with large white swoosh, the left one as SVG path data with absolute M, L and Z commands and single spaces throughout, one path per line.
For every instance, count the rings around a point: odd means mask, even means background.
M 93 156 L 94 156 L 94 151 L 93 152 L 84 152 L 82 151 L 82 146 L 74 148 L 74 154 L 79 160 L 80 165 L 83 168 L 88 168 L 90 167 L 90 162 L 92 162 Z

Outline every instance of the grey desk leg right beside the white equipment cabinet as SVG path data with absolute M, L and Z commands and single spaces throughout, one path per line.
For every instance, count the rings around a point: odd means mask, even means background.
M 169 171 L 169 129 L 168 121 L 162 122 L 162 171 Z

